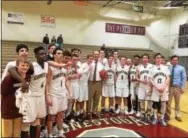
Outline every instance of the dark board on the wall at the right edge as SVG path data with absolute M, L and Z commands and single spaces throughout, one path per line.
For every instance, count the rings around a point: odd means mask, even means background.
M 178 48 L 188 48 L 188 24 L 180 25 Z

